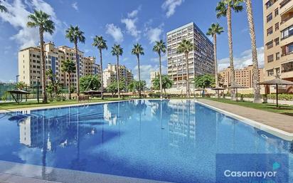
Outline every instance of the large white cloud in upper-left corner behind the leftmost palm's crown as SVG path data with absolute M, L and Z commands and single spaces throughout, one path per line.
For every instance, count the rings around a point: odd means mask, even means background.
M 8 9 L 9 13 L 0 14 L 0 18 L 11 24 L 18 31 L 11 39 L 15 40 L 21 48 L 28 46 L 36 46 L 39 42 L 38 28 L 28 28 L 28 15 L 31 14 L 31 9 L 42 10 L 51 16 L 55 22 L 56 31 L 60 29 L 60 21 L 55 15 L 55 11 L 43 0 L 21 1 L 14 0 L 11 3 L 3 1 L 4 6 Z M 51 40 L 52 36 L 48 33 L 44 34 L 44 38 Z

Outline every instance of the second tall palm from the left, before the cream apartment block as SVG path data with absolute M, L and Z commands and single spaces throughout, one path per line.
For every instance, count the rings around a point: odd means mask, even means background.
M 78 42 L 85 43 L 84 32 L 78 26 L 71 26 L 66 30 L 66 38 L 70 43 L 74 43 L 75 49 L 75 67 L 76 67 L 76 91 L 78 98 L 80 97 L 80 61 L 78 56 Z

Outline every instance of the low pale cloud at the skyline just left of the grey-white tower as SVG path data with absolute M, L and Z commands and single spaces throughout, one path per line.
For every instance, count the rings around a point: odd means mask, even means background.
M 150 87 L 151 86 L 151 71 L 158 71 L 159 70 L 159 65 L 152 66 L 152 65 L 141 65 L 140 66 L 140 78 L 141 80 L 146 81 L 146 86 Z M 167 68 L 166 66 L 161 66 L 161 72 L 162 74 L 167 73 Z M 139 75 L 138 75 L 138 67 L 134 67 L 134 79 L 138 80 Z

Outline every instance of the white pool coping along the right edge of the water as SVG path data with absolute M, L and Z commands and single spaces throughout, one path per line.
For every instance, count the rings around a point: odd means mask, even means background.
M 221 110 L 219 108 L 215 108 L 215 107 L 213 107 L 211 105 L 208 105 L 206 103 L 201 103 L 198 100 L 195 100 L 195 103 L 199 103 L 199 104 L 201 104 L 203 106 L 206 106 L 207 108 L 210 108 L 212 110 L 218 111 L 219 113 L 223 113 L 224 115 L 227 115 L 229 117 L 233 117 L 234 119 L 239 120 L 240 122 L 243 122 L 243 123 L 245 123 L 247 125 L 250 125 L 252 127 L 256 127 L 256 128 L 258 128 L 260 130 L 263 130 L 265 132 L 268 132 L 268 133 L 270 133 L 272 135 L 275 135 L 275 136 L 277 136 L 279 138 L 282 138 L 283 140 L 287 140 L 287 141 L 292 141 L 293 140 L 293 133 L 286 132 L 284 130 L 280 130 L 280 129 L 278 129 L 276 127 L 272 127 L 270 125 L 265 125 L 262 122 L 257 122 L 255 120 L 251 120 L 251 119 L 249 119 L 247 117 L 236 115 L 234 113 L 230 113 L 228 111 Z

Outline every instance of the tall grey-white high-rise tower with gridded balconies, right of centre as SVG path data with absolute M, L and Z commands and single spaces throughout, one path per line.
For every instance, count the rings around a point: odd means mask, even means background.
M 174 81 L 174 88 L 186 85 L 186 61 L 183 53 L 177 53 L 177 47 L 183 39 L 190 40 L 195 45 L 194 51 L 188 55 L 189 80 L 196 75 L 214 74 L 213 43 L 206 34 L 191 22 L 169 31 L 167 34 L 168 75 Z

